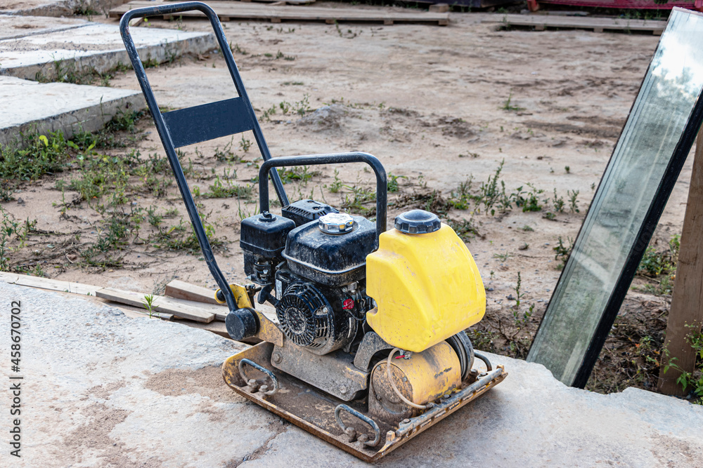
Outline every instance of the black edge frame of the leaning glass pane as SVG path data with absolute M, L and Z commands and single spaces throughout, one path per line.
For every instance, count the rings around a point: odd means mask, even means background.
M 647 70 L 648 69 L 649 67 L 647 68 Z M 645 78 L 646 74 L 643 78 L 643 82 Z M 640 88 L 641 86 L 642 84 L 640 83 Z M 633 105 L 631 106 L 628 115 L 632 112 L 635 102 L 633 102 Z M 681 174 L 683 164 L 686 161 L 686 157 L 688 156 L 688 153 L 691 150 L 693 142 L 695 142 L 696 136 L 698 134 L 699 129 L 701 128 L 702 123 L 703 92 L 699 94 L 698 99 L 692 108 L 684 131 L 681 134 L 681 138 L 679 138 L 678 142 L 676 143 L 676 147 L 673 151 L 673 154 L 671 155 L 671 159 L 669 159 L 669 164 L 666 166 L 664 177 L 659 182 L 659 186 L 657 187 L 657 190 L 654 194 L 654 198 L 652 199 L 650 208 L 647 210 L 647 214 L 645 215 L 643 223 L 640 226 L 639 232 L 636 237 L 636 241 L 633 243 L 633 246 L 631 247 L 628 253 L 625 265 L 620 272 L 617 282 L 615 283 L 612 293 L 610 294 L 610 298 L 608 299 L 605 309 L 603 310 L 603 313 L 600 316 L 600 321 L 598 322 L 598 326 L 595 329 L 595 333 L 593 334 L 593 337 L 591 337 L 591 343 L 588 345 L 588 349 L 586 349 L 586 353 L 583 356 L 581 366 L 579 366 L 579 370 L 574 376 L 574 381 L 571 384 L 572 387 L 583 388 L 586 387 L 586 383 L 588 383 L 588 378 L 591 376 L 593 367 L 598 361 L 598 356 L 600 356 L 602 347 L 603 345 L 605 345 L 605 340 L 607 339 L 608 334 L 610 333 L 610 330 L 613 326 L 613 323 L 617 318 L 617 314 L 620 310 L 622 302 L 625 299 L 627 291 L 630 288 L 632 280 L 637 272 L 638 266 L 642 261 L 642 257 L 645 253 L 645 250 L 647 250 L 647 246 L 649 246 L 650 240 L 652 239 L 654 230 L 657 229 L 657 225 L 659 224 L 659 218 L 661 218 L 662 213 L 664 212 L 666 202 L 669 201 L 669 196 L 671 196 L 673 187 L 674 185 L 676 185 L 676 180 L 678 180 L 678 176 L 679 174 Z M 624 129 L 625 127 L 623 126 L 623 129 L 620 131 L 618 140 L 621 138 Z M 606 167 L 610 166 L 614 155 L 615 149 L 613 149 L 613 153 L 611 154 Z M 603 179 L 601 178 L 598 184 L 598 188 L 595 191 L 594 199 L 596 196 L 598 196 L 602 183 Z M 588 216 L 588 214 L 586 216 Z M 579 234 L 576 236 L 576 241 L 578 241 L 582 231 L 583 225 L 581 225 L 581 229 L 579 229 Z M 574 241 L 574 245 L 576 244 L 576 241 Z M 564 276 L 565 272 L 569 271 L 568 262 L 571 261 L 572 258 L 569 258 L 569 260 L 567 260 L 567 265 L 565 265 L 565 267 L 562 269 L 559 281 L 557 281 L 557 287 L 555 287 L 553 290 L 552 297 L 554 297 L 554 295 L 557 293 L 557 288 L 559 286 L 559 283 L 562 281 L 562 277 Z M 537 335 L 537 333 L 539 333 L 539 329 L 542 327 L 542 323 L 543 321 L 539 324 L 535 336 Z

